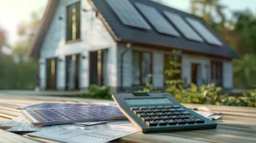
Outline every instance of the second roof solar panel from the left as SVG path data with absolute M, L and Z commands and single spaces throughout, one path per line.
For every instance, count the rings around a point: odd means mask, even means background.
M 160 12 L 157 11 L 156 8 L 140 3 L 135 3 L 135 6 L 159 33 L 180 36 L 178 31 L 170 25 L 170 23 L 163 17 L 163 15 L 161 15 Z

